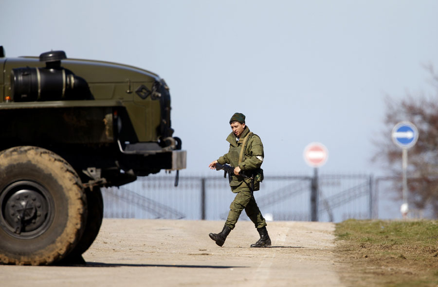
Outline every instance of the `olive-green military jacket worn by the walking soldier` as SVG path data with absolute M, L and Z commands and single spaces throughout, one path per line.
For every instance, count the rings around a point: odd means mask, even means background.
M 251 134 L 245 143 L 245 150 L 243 152 L 242 162 L 239 164 L 240 150 L 243 148 L 242 143 L 246 135 L 250 132 L 248 126 L 241 134 L 237 141 L 236 135 L 231 132 L 227 137 L 227 142 L 230 143 L 230 148 L 228 153 L 224 154 L 218 159 L 220 164 L 228 163 L 231 166 L 236 167 L 237 165 L 243 171 L 245 175 L 251 176 L 251 173 L 259 169 L 263 163 L 264 153 L 263 153 L 263 143 L 256 134 Z M 251 184 L 251 179 L 244 179 L 241 176 L 236 176 L 233 174 L 233 179 L 230 182 L 230 186 L 233 192 L 236 188 L 242 185 L 242 183 Z M 259 182 L 255 182 L 254 190 L 259 190 Z M 236 191 L 237 192 L 237 191 Z

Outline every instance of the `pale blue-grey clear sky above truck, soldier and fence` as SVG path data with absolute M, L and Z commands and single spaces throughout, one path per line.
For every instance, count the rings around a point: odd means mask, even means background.
M 436 0 L 0 2 L 6 56 L 64 50 L 163 77 L 182 175 L 213 175 L 234 112 L 261 137 L 266 175 L 311 175 L 310 142 L 329 149 L 321 172 L 382 175 L 384 96 L 436 94 L 423 67 L 438 66 Z

